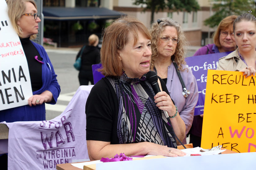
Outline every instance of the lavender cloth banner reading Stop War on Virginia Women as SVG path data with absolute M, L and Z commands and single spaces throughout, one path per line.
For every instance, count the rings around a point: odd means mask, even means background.
M 56 169 L 89 159 L 85 104 L 93 85 L 80 86 L 65 111 L 49 121 L 16 121 L 9 127 L 8 170 Z

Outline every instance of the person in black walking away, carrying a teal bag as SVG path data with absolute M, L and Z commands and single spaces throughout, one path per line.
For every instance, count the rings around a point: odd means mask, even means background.
M 79 70 L 78 79 L 80 86 L 88 85 L 89 81 L 93 83 L 92 65 L 100 63 L 100 49 L 98 48 L 99 37 L 92 34 L 88 38 L 89 44 L 86 45 L 82 52 L 81 69 Z M 82 49 L 76 56 L 79 57 Z

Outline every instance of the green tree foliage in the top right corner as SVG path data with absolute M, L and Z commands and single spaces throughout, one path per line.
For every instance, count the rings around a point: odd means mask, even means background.
M 229 15 L 241 15 L 249 10 L 255 15 L 254 0 L 211 0 L 211 3 L 214 14 L 204 20 L 204 25 L 211 28 L 218 26 L 221 20 Z

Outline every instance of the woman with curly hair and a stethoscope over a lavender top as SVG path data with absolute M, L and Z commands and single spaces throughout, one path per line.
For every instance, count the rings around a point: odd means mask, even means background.
M 151 70 L 157 72 L 166 83 L 171 98 L 177 105 L 180 117 L 186 125 L 186 134 L 189 132 L 194 117 L 194 109 L 198 100 L 198 88 L 195 76 L 186 66 L 184 60 L 186 40 L 179 23 L 169 18 L 158 19 L 152 24 Z M 184 81 L 186 89 L 190 91 L 184 97 L 182 83 L 174 66 L 177 63 L 178 71 Z M 186 144 L 186 137 L 180 139 Z

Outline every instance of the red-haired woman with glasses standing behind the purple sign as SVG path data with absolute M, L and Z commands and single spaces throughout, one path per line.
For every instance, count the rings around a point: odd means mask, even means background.
M 195 52 L 194 56 L 234 51 L 236 41 L 233 33 L 233 23 L 236 18 L 236 15 L 230 15 L 222 19 L 213 34 L 214 44 L 208 44 L 201 47 Z M 193 143 L 193 147 L 201 146 L 202 126 L 203 114 L 194 116 L 191 130 L 189 132 L 190 143 Z

